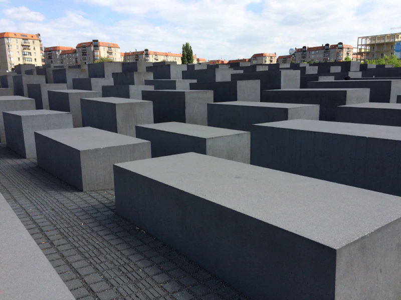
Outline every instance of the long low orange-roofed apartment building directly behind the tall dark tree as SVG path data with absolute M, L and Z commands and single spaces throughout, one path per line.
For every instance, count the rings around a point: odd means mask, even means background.
M 146 61 L 146 62 L 158 62 L 158 61 L 176 61 L 177 64 L 181 64 L 182 54 L 171 53 L 171 52 L 158 52 L 144 49 L 143 51 L 125 52 L 121 53 L 122 61 Z M 193 55 L 193 61 L 196 61 L 196 55 Z M 205 58 L 202 58 L 205 59 Z M 205 59 L 206 61 L 206 59 Z

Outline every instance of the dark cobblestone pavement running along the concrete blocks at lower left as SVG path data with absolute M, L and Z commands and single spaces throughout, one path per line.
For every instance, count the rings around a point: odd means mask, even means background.
M 0 192 L 77 299 L 245 299 L 117 215 L 114 190 L 78 191 L 4 144 Z

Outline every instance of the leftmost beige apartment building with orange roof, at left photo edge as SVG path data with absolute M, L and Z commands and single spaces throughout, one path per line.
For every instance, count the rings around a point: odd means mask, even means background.
M 1 32 L 0 71 L 11 71 L 20 63 L 43 64 L 40 34 Z

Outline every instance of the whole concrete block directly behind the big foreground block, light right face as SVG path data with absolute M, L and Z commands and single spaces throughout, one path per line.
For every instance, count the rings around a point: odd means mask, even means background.
M 150 141 L 152 157 L 196 152 L 251 162 L 251 133 L 179 122 L 137 125 L 136 136 Z

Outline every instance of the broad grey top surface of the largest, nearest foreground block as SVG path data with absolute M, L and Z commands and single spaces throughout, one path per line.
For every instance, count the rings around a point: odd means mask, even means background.
M 397 196 L 208 155 L 117 165 L 336 249 L 401 217 Z

